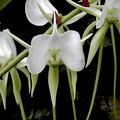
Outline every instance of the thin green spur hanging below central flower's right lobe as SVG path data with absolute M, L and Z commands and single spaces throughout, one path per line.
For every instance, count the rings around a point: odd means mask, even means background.
M 70 94 L 71 94 L 71 100 L 72 100 L 73 116 L 74 116 L 74 120 L 77 120 L 72 80 L 71 80 L 70 70 L 68 68 L 67 68 L 67 75 L 68 75 L 68 82 L 69 82 Z

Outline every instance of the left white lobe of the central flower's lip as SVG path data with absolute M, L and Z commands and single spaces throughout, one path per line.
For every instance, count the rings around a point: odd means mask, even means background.
M 50 53 L 51 35 L 38 35 L 32 39 L 27 66 L 32 74 L 40 73 L 46 66 Z

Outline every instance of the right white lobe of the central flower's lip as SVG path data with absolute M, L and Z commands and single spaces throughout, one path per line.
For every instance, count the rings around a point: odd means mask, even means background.
M 67 31 L 59 35 L 56 41 L 56 48 L 60 48 L 59 55 L 64 64 L 73 71 L 80 71 L 84 68 L 85 59 L 82 50 L 79 33 Z

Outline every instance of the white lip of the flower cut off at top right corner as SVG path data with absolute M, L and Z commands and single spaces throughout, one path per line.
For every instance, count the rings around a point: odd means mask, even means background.
M 102 10 L 102 15 L 96 24 L 96 28 L 100 28 L 108 18 L 120 22 L 120 0 L 106 0 Z

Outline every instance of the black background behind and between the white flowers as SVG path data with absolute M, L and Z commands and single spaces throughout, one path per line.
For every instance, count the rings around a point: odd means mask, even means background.
M 0 11 L 0 30 L 9 29 L 13 34 L 20 37 L 25 42 L 31 42 L 33 36 L 37 34 L 44 33 L 49 27 L 50 24 L 46 24 L 42 27 L 34 26 L 26 18 L 25 15 L 25 1 L 26 0 L 12 0 L 3 10 Z M 58 9 L 59 13 L 66 15 L 71 10 L 74 9 L 69 5 L 65 0 L 50 0 L 51 3 Z M 78 22 L 69 25 L 69 28 L 72 30 L 78 31 L 81 36 L 85 28 L 94 21 L 95 18 L 91 15 L 87 15 Z M 93 32 L 97 30 L 94 28 Z M 116 35 L 116 48 L 117 48 L 117 61 L 118 61 L 118 74 L 117 74 L 117 98 L 120 96 L 120 36 L 118 31 L 115 28 Z M 106 35 L 110 40 L 110 32 L 107 32 Z M 88 41 L 90 42 L 91 39 Z M 89 42 L 86 42 L 84 45 L 84 53 L 87 59 L 89 51 Z M 24 47 L 15 42 L 17 46 L 17 51 L 20 53 L 24 50 Z M 78 72 L 78 82 L 77 82 L 77 96 L 76 96 L 76 110 L 78 120 L 85 120 L 91 97 L 94 88 L 95 75 L 97 69 L 97 59 L 98 53 L 95 55 L 92 63 L 81 72 Z M 103 61 L 101 67 L 100 80 L 95 100 L 95 105 L 91 115 L 91 120 L 109 120 L 108 111 L 101 109 L 101 101 L 105 100 L 105 103 L 108 105 L 108 98 L 113 96 L 113 53 L 112 45 L 104 47 L 103 50 Z M 64 66 L 60 67 L 60 70 Z M 19 72 L 22 82 L 21 96 L 23 99 L 23 104 L 28 117 L 32 111 L 33 120 L 34 116 L 38 115 L 39 117 L 36 120 L 52 120 L 52 109 L 51 109 L 51 99 L 47 83 L 47 74 L 48 67 L 46 66 L 45 70 L 40 73 L 38 84 L 36 86 L 34 97 L 31 98 L 28 94 L 27 80 L 23 73 Z M 11 79 L 8 83 L 8 96 L 7 96 L 7 110 L 3 109 L 3 105 L 0 105 L 0 114 L 4 119 L 11 120 L 21 120 L 19 106 L 15 103 L 15 99 L 12 93 Z M 66 71 L 63 70 L 60 72 L 59 88 L 57 94 L 57 120 L 73 120 L 72 115 L 72 104 L 69 93 L 69 86 L 67 80 Z M 108 105 L 109 109 L 109 105 Z M 2 117 L 1 117 L 2 118 Z

